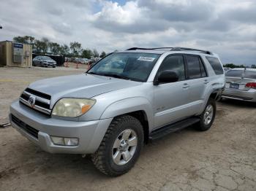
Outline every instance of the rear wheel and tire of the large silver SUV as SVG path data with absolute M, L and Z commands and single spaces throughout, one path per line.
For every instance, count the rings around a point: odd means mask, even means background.
M 214 98 L 209 98 L 206 108 L 203 113 L 200 114 L 200 122 L 197 125 L 197 129 L 201 131 L 208 130 L 214 122 L 216 114 L 216 101 Z

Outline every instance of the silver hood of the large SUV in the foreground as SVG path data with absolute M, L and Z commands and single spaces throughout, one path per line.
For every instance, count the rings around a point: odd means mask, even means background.
M 63 97 L 92 98 L 102 93 L 140 85 L 141 83 L 92 74 L 77 74 L 42 79 L 31 83 L 29 88 L 51 95 L 51 102 L 55 102 Z

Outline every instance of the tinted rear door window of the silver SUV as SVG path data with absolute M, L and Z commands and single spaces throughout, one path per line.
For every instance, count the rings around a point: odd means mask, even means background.
M 198 56 L 186 55 L 187 58 L 187 72 L 189 79 L 201 77 L 200 61 Z

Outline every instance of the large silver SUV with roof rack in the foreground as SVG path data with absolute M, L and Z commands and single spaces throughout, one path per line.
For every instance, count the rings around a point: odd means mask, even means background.
M 224 86 L 212 52 L 134 47 L 85 74 L 32 83 L 10 106 L 10 121 L 46 152 L 91 154 L 99 171 L 118 176 L 148 140 L 192 124 L 208 130 Z

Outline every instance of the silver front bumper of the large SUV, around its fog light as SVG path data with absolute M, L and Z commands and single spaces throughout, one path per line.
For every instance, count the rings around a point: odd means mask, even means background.
M 37 137 L 31 135 L 23 125 L 12 120 L 12 115 L 31 128 L 38 131 Z M 19 101 L 10 106 L 10 122 L 12 127 L 23 136 L 37 144 L 46 152 L 69 153 L 69 154 L 91 154 L 97 151 L 112 118 L 94 121 L 67 121 L 45 117 L 43 114 L 30 109 Z M 53 144 L 50 136 L 78 138 L 78 146 L 59 146 Z

